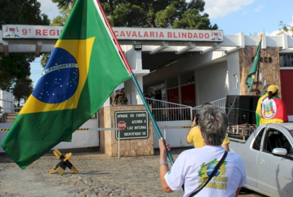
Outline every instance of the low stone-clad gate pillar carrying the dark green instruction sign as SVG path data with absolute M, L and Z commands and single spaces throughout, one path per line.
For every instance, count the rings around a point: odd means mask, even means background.
M 151 107 L 151 106 L 150 106 Z M 146 110 L 144 105 L 113 105 L 99 109 L 99 127 L 115 128 L 115 112 Z M 152 122 L 149 118 L 149 138 L 120 140 L 120 157 L 154 155 Z M 118 156 L 118 140 L 115 131 L 99 131 L 101 152 L 112 157 Z

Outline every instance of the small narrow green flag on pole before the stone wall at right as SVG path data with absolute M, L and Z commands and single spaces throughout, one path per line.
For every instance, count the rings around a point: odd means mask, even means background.
M 262 37 L 263 37 L 263 35 L 260 34 L 260 41 L 259 41 L 259 44 L 258 44 L 257 52 L 255 54 L 252 66 L 251 66 L 250 71 L 249 71 L 249 73 L 247 75 L 247 78 L 246 78 L 246 83 L 248 83 L 248 94 L 250 93 L 250 90 L 251 90 L 251 88 L 253 86 L 253 81 L 254 81 L 255 74 L 256 74 L 256 71 L 257 71 L 257 68 L 258 68 L 258 65 L 259 65 Z

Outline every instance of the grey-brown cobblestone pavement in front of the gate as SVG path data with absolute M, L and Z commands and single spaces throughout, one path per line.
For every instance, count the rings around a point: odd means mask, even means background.
M 109 157 L 98 148 L 60 150 L 72 152 L 71 163 L 79 170 L 68 168 L 61 176 L 48 172 L 59 162 L 53 153 L 46 153 L 21 170 L 7 155 L 0 155 L 0 197 L 142 197 L 182 196 L 183 191 L 164 193 L 159 179 L 159 152 L 146 157 Z M 174 149 L 174 159 L 183 149 Z M 261 196 L 241 190 L 241 197 Z

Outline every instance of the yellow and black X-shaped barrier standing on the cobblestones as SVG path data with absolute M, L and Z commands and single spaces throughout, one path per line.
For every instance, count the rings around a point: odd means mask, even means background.
M 61 161 L 56 166 L 54 166 L 52 170 L 50 170 L 49 174 L 52 174 L 57 169 L 57 172 L 59 174 L 63 175 L 64 170 L 66 169 L 66 167 L 68 167 L 69 169 L 71 169 L 74 173 L 76 173 L 76 174 L 78 173 L 78 170 L 76 169 L 76 167 L 74 167 L 74 165 L 72 165 L 71 162 L 68 160 L 69 157 L 72 155 L 72 153 L 67 153 L 65 155 L 65 157 L 57 149 L 55 149 L 53 151 L 53 153 Z

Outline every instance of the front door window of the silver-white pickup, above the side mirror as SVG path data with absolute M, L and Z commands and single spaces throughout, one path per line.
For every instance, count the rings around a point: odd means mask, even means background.
M 274 148 L 285 148 L 287 156 L 293 158 L 293 149 L 285 135 L 276 129 L 268 129 L 265 132 L 265 141 L 263 150 L 271 153 Z

